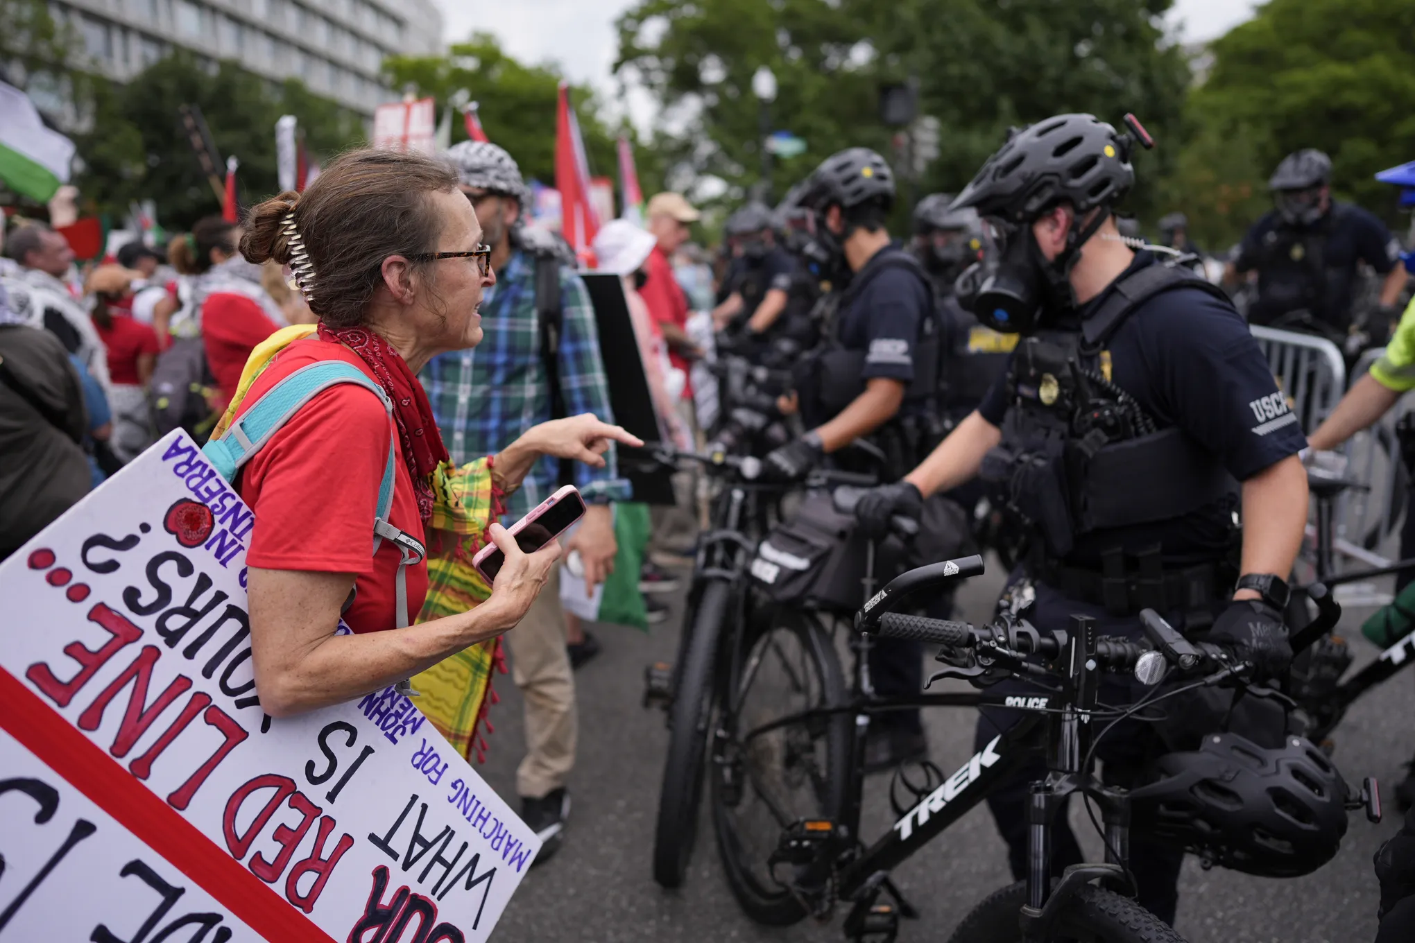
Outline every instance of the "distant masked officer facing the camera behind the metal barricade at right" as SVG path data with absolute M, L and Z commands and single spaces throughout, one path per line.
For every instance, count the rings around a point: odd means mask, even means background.
M 1254 324 L 1300 327 L 1302 311 L 1334 336 L 1351 328 L 1357 263 L 1385 276 L 1380 307 L 1365 325 L 1374 344 L 1390 336 L 1399 317 L 1395 304 L 1405 287 L 1399 243 L 1385 225 L 1360 206 L 1332 199 L 1332 158 L 1300 150 L 1278 164 L 1268 181 L 1275 208 L 1244 236 L 1225 279 L 1258 273 Z

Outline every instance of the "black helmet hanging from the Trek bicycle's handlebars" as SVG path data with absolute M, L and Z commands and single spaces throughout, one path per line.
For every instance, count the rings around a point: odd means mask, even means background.
M 1156 769 L 1156 782 L 1129 793 L 1131 827 L 1206 862 L 1295 878 L 1341 845 L 1348 789 L 1307 739 L 1264 748 L 1210 734 L 1197 751 L 1162 756 Z

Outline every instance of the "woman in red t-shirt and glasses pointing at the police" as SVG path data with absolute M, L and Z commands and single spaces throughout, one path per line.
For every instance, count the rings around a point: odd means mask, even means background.
M 395 418 L 391 426 L 366 389 L 330 386 L 241 469 L 236 488 L 255 510 L 246 553 L 250 642 L 267 714 L 361 697 L 511 629 L 560 554 L 555 541 L 525 554 L 492 523 L 488 534 L 505 566 L 491 597 L 458 615 L 385 631 L 416 619 L 427 570 L 424 563 L 408 567 L 400 619 L 400 553 L 383 540 L 369 556 L 378 486 L 392 438 L 398 461 L 388 523 L 422 541 L 434 500 L 430 475 L 447 450 L 417 370 L 436 353 L 481 341 L 477 308 L 483 290 L 495 284 L 481 239 L 456 174 L 396 151 L 345 154 L 303 194 L 280 194 L 246 221 L 245 257 L 290 264 L 320 327 L 275 358 L 236 417 L 296 369 L 340 359 L 388 393 Z M 541 455 L 601 465 L 611 440 L 642 444 L 593 416 L 532 427 L 492 457 L 492 486 L 514 491 Z M 341 611 L 352 635 L 335 635 Z

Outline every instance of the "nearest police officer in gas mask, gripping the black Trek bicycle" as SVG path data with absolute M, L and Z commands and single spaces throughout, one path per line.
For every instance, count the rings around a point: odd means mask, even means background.
M 1084 614 L 1101 635 L 1139 638 L 1149 607 L 1276 674 L 1290 662 L 1281 574 L 1306 522 L 1305 440 L 1227 297 L 1121 239 L 1112 206 L 1133 184 L 1138 140 L 1148 143 L 1138 124 L 1118 134 L 1091 115 L 1049 119 L 1013 136 L 954 202 L 975 208 L 986 235 L 966 301 L 1022 339 L 982 406 L 857 515 L 886 529 L 982 471 L 1009 484 L 1034 529 L 1005 597 L 1034 625 L 1065 629 Z M 1230 567 L 1238 508 L 1245 527 Z M 1101 700 L 1133 698 L 1126 680 L 1109 679 Z M 1125 785 L 1155 754 L 1197 746 L 1223 722 L 1223 710 L 1169 704 L 1163 741 L 1126 722 L 1099 742 L 1108 778 Z M 1017 718 L 983 711 L 979 745 Z M 1039 778 L 1024 771 L 989 799 L 1019 879 L 1026 783 Z M 1057 872 L 1081 861 L 1064 823 L 1053 841 Z M 1182 858 L 1132 833 L 1139 901 L 1169 922 Z

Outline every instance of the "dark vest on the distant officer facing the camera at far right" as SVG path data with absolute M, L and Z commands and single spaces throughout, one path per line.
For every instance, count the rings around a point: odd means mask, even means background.
M 1341 208 L 1334 205 L 1315 226 L 1295 229 L 1279 223 L 1268 230 L 1257 259 L 1254 324 L 1272 324 L 1285 314 L 1306 310 L 1317 321 L 1346 327 L 1344 305 L 1332 297 L 1332 287 L 1344 280 L 1327 264 L 1327 242 L 1340 216 Z

